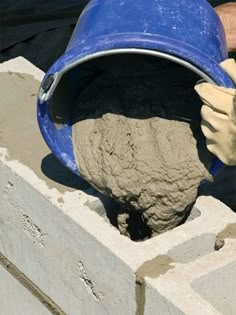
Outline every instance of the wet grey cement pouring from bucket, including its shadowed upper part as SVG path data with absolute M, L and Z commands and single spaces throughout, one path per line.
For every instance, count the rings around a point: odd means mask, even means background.
M 200 182 L 211 180 L 196 77 L 178 66 L 158 75 L 150 65 L 135 74 L 117 69 L 79 95 L 74 154 L 82 176 L 119 202 L 120 232 L 129 236 L 136 211 L 154 236 L 183 222 Z

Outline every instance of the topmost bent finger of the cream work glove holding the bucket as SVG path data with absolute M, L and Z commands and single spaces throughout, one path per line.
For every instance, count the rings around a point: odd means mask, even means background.
M 205 105 L 218 113 L 228 116 L 231 114 L 232 102 L 236 95 L 234 89 L 218 87 L 210 83 L 202 83 L 196 85 L 195 90 Z

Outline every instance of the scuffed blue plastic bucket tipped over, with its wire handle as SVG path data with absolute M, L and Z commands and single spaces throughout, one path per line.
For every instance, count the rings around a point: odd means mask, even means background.
M 92 0 L 82 12 L 67 50 L 48 70 L 38 95 L 38 123 L 54 155 L 79 174 L 72 147 L 70 99 L 84 88 L 91 60 L 143 54 L 172 60 L 208 82 L 234 87 L 219 63 L 228 56 L 225 33 L 205 0 Z M 82 70 L 83 69 L 83 70 Z M 83 76 L 81 76 L 83 72 Z M 68 105 L 67 105 L 68 104 Z M 53 116 L 53 108 L 64 120 Z M 65 117 L 67 117 L 65 119 Z M 58 118 L 58 121 L 57 121 Z M 217 158 L 211 174 L 224 167 Z

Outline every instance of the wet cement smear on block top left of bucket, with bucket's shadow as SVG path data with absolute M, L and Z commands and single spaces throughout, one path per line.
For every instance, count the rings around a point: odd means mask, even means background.
M 8 64 L 8 63 L 6 63 Z M 17 66 L 18 65 L 18 66 Z M 16 71 L 30 71 L 34 77 Z M 2 72 L 6 70 L 6 72 Z M 7 148 L 8 160 L 17 160 L 31 169 L 49 188 L 64 193 L 87 189 L 89 185 L 66 169 L 51 153 L 40 134 L 36 104 L 40 81 L 37 68 L 22 58 L 12 66 L 2 65 L 0 73 L 0 147 Z

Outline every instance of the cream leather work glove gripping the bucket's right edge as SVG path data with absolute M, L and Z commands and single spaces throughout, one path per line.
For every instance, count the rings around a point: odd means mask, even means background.
M 234 59 L 221 66 L 236 83 Z M 201 83 L 195 90 L 203 101 L 201 128 L 208 150 L 226 165 L 236 165 L 236 89 Z

